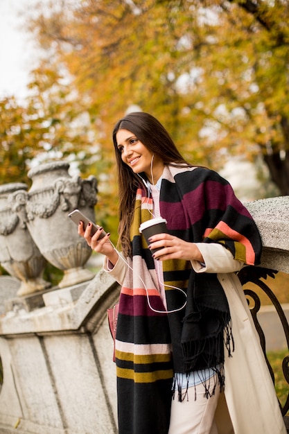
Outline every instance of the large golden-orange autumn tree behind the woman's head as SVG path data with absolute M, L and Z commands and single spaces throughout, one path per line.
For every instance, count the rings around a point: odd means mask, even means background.
M 261 155 L 288 194 L 288 18 L 283 0 L 71 0 L 40 8 L 30 30 L 85 102 L 100 161 L 134 104 L 187 159 L 219 169 Z

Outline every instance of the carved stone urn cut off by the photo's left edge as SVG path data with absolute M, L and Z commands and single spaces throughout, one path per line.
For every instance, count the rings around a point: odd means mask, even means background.
M 21 281 L 17 295 L 29 295 L 51 286 L 42 279 L 46 259 L 24 221 L 11 207 L 10 196 L 26 190 L 27 185 L 19 182 L 0 186 L 0 263 L 12 277 Z

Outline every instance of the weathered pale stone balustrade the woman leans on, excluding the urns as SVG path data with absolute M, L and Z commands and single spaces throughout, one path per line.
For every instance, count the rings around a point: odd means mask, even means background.
M 261 267 L 289 273 L 289 198 L 246 206 L 263 240 Z M 3 279 L 0 291 L 15 284 L 12 277 Z M 118 297 L 119 285 L 100 271 L 90 281 L 5 301 L 0 318 L 1 433 L 117 432 L 106 311 Z

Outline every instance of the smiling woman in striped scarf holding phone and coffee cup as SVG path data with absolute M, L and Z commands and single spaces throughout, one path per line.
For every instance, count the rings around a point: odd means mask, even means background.
M 113 132 L 119 245 L 78 232 L 121 284 L 116 331 L 120 434 L 286 434 L 236 272 L 260 262 L 247 209 L 216 172 L 191 166 L 153 116 Z M 167 221 L 146 244 L 139 226 Z M 151 254 L 150 250 L 161 248 Z

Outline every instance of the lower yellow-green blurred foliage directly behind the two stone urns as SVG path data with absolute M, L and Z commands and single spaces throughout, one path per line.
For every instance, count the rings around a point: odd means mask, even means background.
M 51 159 L 77 162 L 89 172 L 98 160 L 97 138 L 77 92 L 45 62 L 31 71 L 25 103 L 15 96 L 0 101 L 0 182 L 28 182 L 31 164 Z

